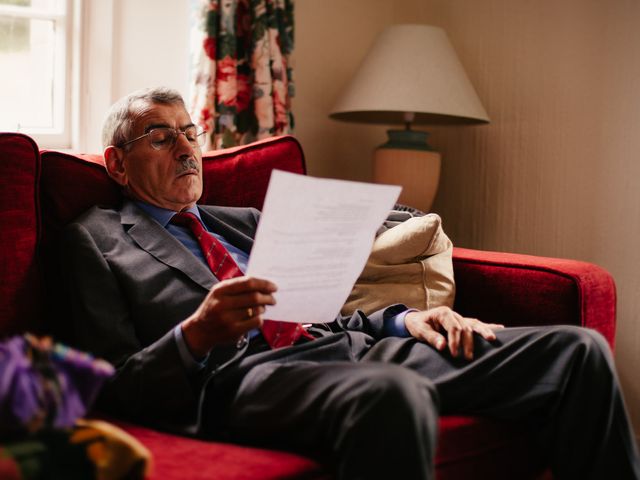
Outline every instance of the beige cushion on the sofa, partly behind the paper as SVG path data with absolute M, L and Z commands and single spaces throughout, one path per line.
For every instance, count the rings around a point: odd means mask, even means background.
M 426 310 L 453 306 L 453 244 L 435 213 L 410 218 L 383 231 L 356 281 L 344 315 L 371 313 L 393 303 Z

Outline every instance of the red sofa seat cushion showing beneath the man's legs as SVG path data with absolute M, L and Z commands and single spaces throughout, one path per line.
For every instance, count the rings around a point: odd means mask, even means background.
M 115 424 L 151 451 L 154 469 L 149 480 L 332 478 L 312 459 L 294 453 L 177 437 L 120 421 Z M 439 430 L 435 458 L 439 480 L 474 478 L 478 471 L 492 472 L 496 480 L 533 480 L 543 473 L 540 457 L 530 455 L 534 447 L 530 432 L 522 425 L 444 416 Z M 187 456 L 188 463 L 184 462 Z

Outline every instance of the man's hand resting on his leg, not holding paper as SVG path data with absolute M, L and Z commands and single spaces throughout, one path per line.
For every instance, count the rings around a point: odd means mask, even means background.
M 451 355 L 457 357 L 462 352 L 467 360 L 473 360 L 474 334 L 493 341 L 496 339 L 494 330 L 504 328 L 504 325 L 463 317 L 449 307 L 409 312 L 404 322 L 409 333 L 418 340 L 439 351 L 444 350 L 448 344 Z

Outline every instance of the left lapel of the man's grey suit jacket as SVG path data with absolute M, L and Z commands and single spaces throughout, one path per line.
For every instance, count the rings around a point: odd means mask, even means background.
M 133 241 L 160 262 L 183 272 L 207 291 L 218 282 L 206 265 L 133 202 L 125 202 L 121 219 Z

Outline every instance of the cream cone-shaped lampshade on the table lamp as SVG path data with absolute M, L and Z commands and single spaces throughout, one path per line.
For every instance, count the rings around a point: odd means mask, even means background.
M 394 25 L 376 39 L 330 117 L 362 123 L 465 124 L 489 117 L 447 38 L 430 25 Z

